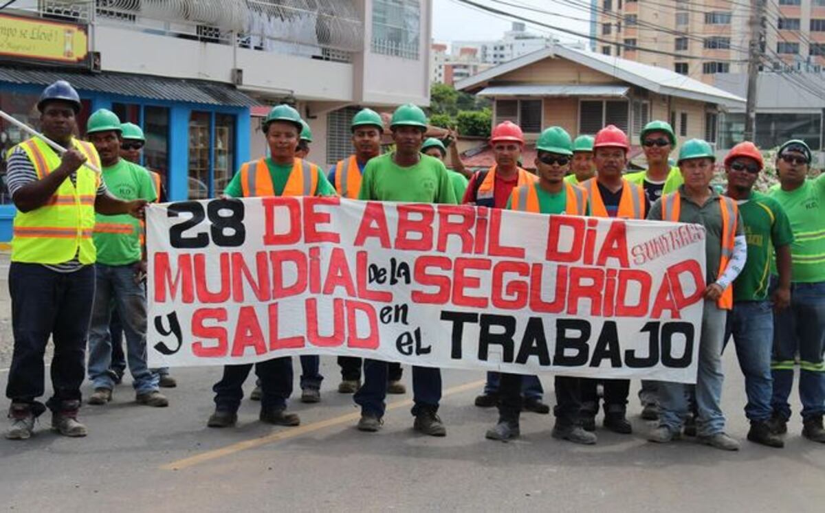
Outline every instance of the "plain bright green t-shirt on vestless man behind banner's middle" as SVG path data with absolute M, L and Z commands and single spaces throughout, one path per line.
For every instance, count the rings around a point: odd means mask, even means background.
M 394 156 L 395 153 L 385 153 L 366 163 L 359 200 L 458 203 L 450 172 L 443 162 L 422 154 L 414 166 L 400 167 Z

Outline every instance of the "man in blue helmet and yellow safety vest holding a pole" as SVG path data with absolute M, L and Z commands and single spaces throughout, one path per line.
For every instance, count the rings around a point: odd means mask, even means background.
M 12 400 L 6 437 L 12 440 L 29 438 L 46 407 L 52 411 L 52 428 L 61 435 L 87 434 L 78 409 L 95 294 L 94 213 L 140 218 L 146 205 L 146 200 L 115 198 L 101 176 L 83 165 L 100 168 L 101 162 L 92 144 L 73 137 L 81 108 L 80 96 L 68 82 L 54 82 L 37 102 L 40 129 L 68 150 L 61 156 L 35 138 L 9 152 L 7 185 L 17 207 L 8 272 L 14 351 L 6 388 Z M 43 355 L 50 338 L 54 395 L 44 406 L 37 398 L 44 393 Z

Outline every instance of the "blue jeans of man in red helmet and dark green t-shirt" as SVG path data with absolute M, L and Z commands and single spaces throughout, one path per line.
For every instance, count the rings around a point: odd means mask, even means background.
M 745 417 L 749 421 L 771 418 L 771 346 L 773 306 L 770 301 L 740 301 L 728 312 L 724 343 L 733 335 L 739 368 L 745 374 Z

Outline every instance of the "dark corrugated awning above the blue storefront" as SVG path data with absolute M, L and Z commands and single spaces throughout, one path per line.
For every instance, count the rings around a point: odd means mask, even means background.
M 0 82 L 47 86 L 68 80 L 75 88 L 153 100 L 205 105 L 255 106 L 257 101 L 227 83 L 131 73 L 71 73 L 54 69 L 0 68 Z

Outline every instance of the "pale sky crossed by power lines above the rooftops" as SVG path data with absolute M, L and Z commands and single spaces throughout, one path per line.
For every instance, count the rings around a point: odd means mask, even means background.
M 473 0 L 500 11 L 512 12 L 531 20 L 540 21 L 548 25 L 563 26 L 572 31 L 590 33 L 587 21 L 575 21 L 559 16 L 550 16 L 540 12 L 530 12 L 507 6 L 507 3 L 526 7 L 535 7 L 540 11 L 554 12 L 564 16 L 573 16 L 590 19 L 590 14 L 584 8 L 573 7 L 570 4 L 589 5 L 589 0 L 577 2 L 560 2 L 559 0 Z M 433 0 L 432 37 L 437 42 L 453 40 L 497 40 L 505 31 L 509 31 L 512 21 L 502 16 L 479 12 L 474 7 L 461 4 L 458 0 Z M 552 35 L 554 31 L 546 27 L 528 24 L 527 31 L 538 35 Z M 557 34 L 561 40 L 577 40 L 573 35 Z

